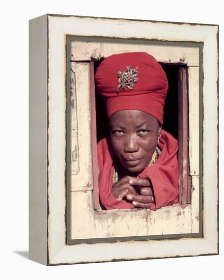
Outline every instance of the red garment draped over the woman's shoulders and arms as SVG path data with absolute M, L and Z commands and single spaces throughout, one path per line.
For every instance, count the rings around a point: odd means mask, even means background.
M 155 164 L 146 167 L 137 178 L 150 179 L 154 191 L 155 204 L 151 210 L 178 203 L 178 143 L 177 140 L 165 130 L 161 130 L 159 139 L 161 154 Z M 114 177 L 113 158 L 114 151 L 110 146 L 109 138 L 103 138 L 97 145 L 99 165 L 99 195 L 105 209 L 134 208 L 131 202 L 118 201 L 113 192 Z

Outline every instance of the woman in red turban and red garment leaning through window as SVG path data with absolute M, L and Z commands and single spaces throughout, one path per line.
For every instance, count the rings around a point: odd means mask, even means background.
M 178 144 L 162 130 L 168 82 L 145 52 L 114 54 L 97 69 L 110 135 L 97 146 L 99 195 L 105 209 L 150 208 L 178 202 Z

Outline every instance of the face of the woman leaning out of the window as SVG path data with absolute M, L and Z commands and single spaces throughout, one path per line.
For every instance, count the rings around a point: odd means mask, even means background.
M 109 118 L 112 147 L 131 173 L 141 172 L 151 161 L 161 128 L 151 115 L 139 110 L 121 110 Z

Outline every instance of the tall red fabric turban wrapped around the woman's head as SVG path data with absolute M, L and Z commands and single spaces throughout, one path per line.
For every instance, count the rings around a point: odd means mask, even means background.
M 168 82 L 161 65 L 146 52 L 125 52 L 105 58 L 95 81 L 106 100 L 108 118 L 120 110 L 141 110 L 163 124 Z

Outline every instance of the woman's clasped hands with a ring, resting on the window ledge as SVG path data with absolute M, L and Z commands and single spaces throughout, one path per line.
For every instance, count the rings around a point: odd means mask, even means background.
M 113 185 L 112 191 L 117 200 L 126 198 L 138 208 L 150 208 L 155 203 L 148 179 L 125 176 Z

